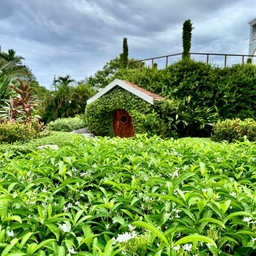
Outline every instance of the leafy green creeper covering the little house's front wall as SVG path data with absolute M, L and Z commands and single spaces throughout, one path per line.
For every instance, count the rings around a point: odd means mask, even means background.
M 133 117 L 132 111 L 149 113 L 153 110 L 153 105 L 121 87 L 114 87 L 86 106 L 85 121 L 89 131 L 96 136 L 115 136 L 113 118 L 118 109 L 125 109 Z M 133 118 L 132 123 L 136 132 L 137 122 Z

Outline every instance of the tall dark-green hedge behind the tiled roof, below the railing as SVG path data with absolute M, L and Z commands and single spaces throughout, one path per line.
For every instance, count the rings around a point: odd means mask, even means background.
M 256 111 L 256 65 L 236 64 L 220 69 L 183 59 L 163 70 L 143 67 L 121 69 L 113 78 L 123 79 L 170 98 L 191 97 L 192 108 L 217 106 L 221 118 L 253 117 Z M 108 78 L 109 79 L 109 78 Z M 244 116 L 244 115 L 242 115 Z

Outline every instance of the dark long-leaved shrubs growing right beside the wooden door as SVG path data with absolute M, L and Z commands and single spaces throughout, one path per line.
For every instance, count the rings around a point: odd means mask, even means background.
M 162 137 L 209 137 L 212 125 L 218 120 L 215 108 L 191 108 L 190 98 L 155 102 L 149 114 L 133 111 L 137 132 Z

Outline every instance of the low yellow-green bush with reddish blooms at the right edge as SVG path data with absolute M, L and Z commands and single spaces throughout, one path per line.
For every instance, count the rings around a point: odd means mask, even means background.
M 250 141 L 256 141 L 256 121 L 252 118 L 244 119 L 226 119 L 224 121 L 218 121 L 213 125 L 212 140 L 221 142 L 227 140 L 232 142 L 233 140 L 244 140 L 244 136 Z

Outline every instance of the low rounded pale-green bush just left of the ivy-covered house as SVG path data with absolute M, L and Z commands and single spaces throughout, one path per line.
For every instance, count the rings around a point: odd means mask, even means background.
M 58 118 L 55 121 L 49 122 L 47 129 L 51 131 L 74 131 L 84 128 L 86 123 L 80 116 Z

